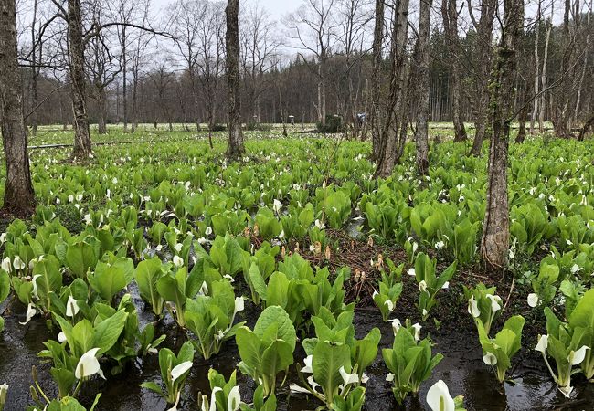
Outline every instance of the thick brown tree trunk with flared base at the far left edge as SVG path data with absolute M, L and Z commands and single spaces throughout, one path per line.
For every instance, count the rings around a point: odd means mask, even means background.
M 15 0 L 0 0 L 0 118 L 5 150 L 6 182 L 3 211 L 30 216 L 35 209 L 23 118 L 20 68 L 16 57 Z

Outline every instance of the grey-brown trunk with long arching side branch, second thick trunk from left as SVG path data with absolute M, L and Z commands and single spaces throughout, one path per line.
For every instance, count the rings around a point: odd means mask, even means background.
M 80 0 L 68 0 L 69 68 L 74 113 L 73 160 L 86 160 L 92 155 L 87 92 L 85 90 L 85 47 L 82 39 Z

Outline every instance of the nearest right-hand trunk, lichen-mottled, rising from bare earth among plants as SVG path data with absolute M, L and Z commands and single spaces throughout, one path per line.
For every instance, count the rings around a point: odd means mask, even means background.
M 507 157 L 513 120 L 516 50 L 524 23 L 523 0 L 504 0 L 504 26 L 491 80 L 493 137 L 489 152 L 487 198 L 481 238 L 481 256 L 488 269 L 503 269 L 509 249 Z

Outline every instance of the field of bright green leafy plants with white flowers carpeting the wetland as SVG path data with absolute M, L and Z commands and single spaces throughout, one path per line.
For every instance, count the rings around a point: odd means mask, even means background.
M 137 134 L 31 152 L 36 215 L 0 237 L 6 410 L 435 409 L 440 380 L 457 409 L 594 407 L 592 142 L 511 147 L 495 275 L 464 143 L 375 179 L 368 142 L 247 132 L 228 163 L 222 134 Z

